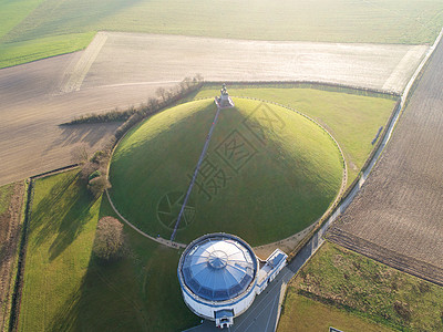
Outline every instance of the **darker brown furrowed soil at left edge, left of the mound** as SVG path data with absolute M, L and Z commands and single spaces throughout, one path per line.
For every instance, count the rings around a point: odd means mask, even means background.
M 71 151 L 96 151 L 120 123 L 59 126 L 76 115 L 138 104 L 146 86 L 105 87 L 61 94 L 64 71 L 82 52 L 0 71 L 0 185 L 72 163 Z

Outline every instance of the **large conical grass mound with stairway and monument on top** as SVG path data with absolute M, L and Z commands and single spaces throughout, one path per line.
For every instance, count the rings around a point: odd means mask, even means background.
M 234 98 L 222 110 L 176 240 L 235 234 L 254 246 L 316 221 L 337 196 L 342 160 L 313 122 L 274 104 Z M 169 238 L 216 114 L 213 100 L 146 120 L 111 160 L 111 197 L 141 230 Z

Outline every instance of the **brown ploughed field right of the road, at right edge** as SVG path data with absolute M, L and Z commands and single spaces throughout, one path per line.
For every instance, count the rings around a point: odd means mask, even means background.
M 443 44 L 378 165 L 328 238 L 443 284 Z

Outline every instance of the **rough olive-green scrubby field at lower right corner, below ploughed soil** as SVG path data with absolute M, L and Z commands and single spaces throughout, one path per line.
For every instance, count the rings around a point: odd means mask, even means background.
M 442 287 L 326 242 L 290 281 L 278 331 L 298 331 L 290 329 L 296 317 L 316 325 L 323 314 L 343 331 L 365 331 L 348 328 L 348 317 L 398 331 L 443 331 L 442 299 Z

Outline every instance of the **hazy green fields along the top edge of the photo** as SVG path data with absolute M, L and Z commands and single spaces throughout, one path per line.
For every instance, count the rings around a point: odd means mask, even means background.
M 101 30 L 254 40 L 432 43 L 443 25 L 443 3 L 0 0 L 0 68 L 4 68 L 80 50 Z

